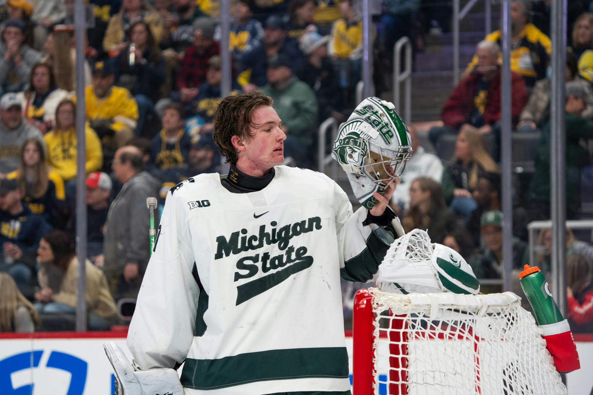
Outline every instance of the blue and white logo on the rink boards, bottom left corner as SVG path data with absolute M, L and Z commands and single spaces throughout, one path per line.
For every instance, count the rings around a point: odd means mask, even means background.
M 87 362 L 59 351 L 11 355 L 0 361 L 0 394 L 82 395 L 87 369 Z

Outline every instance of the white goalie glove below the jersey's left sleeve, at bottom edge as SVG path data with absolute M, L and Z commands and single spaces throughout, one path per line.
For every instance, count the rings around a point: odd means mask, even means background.
M 115 371 L 115 393 L 118 395 L 183 395 L 183 386 L 174 369 L 136 371 L 114 342 L 103 345 Z

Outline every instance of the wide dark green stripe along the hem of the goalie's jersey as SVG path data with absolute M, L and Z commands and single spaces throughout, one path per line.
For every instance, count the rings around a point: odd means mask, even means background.
M 215 390 L 256 381 L 347 378 L 348 370 L 345 347 L 292 348 L 219 359 L 187 358 L 181 384 L 195 390 Z

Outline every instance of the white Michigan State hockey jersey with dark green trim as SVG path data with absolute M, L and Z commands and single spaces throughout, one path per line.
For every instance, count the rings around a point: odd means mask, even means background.
M 139 367 L 185 360 L 186 394 L 349 390 L 340 274 L 388 249 L 324 174 L 275 167 L 263 190 L 218 174 L 168 193 L 127 345 Z

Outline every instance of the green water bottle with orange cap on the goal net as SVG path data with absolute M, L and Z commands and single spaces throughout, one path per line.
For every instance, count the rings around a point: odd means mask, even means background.
M 554 302 L 550 285 L 539 267 L 525 265 L 519 273 L 519 282 L 527 300 L 535 313 L 538 325 L 554 324 L 563 321 L 562 313 Z

